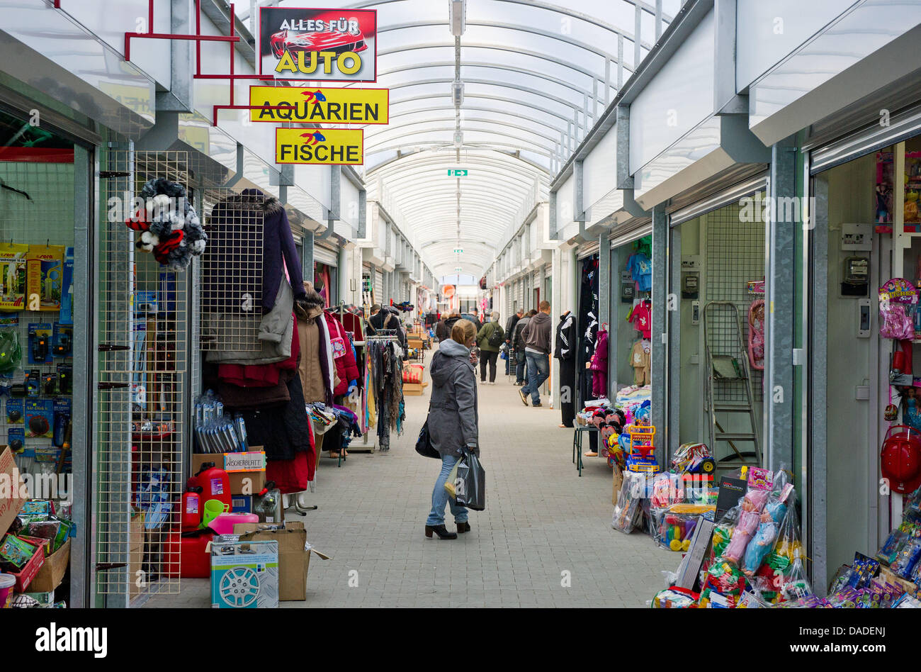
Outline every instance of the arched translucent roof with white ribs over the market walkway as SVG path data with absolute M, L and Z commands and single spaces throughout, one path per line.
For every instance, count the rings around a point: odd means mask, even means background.
M 240 18 L 250 17 L 246 5 L 257 4 L 238 2 Z M 365 126 L 368 198 L 396 204 L 397 224 L 437 277 L 458 267 L 480 277 L 682 0 L 258 5 L 378 10 L 378 81 L 354 85 L 391 89 L 390 124 Z M 456 168 L 469 174 L 449 177 Z

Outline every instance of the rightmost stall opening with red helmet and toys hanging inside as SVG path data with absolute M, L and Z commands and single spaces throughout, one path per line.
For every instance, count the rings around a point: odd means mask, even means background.
M 921 115 L 810 147 L 810 468 L 827 577 L 855 552 L 896 571 L 921 484 Z M 846 362 L 846 365 L 841 365 Z M 822 522 L 822 528 L 818 527 Z M 894 532 L 893 532 L 894 530 Z M 907 532 L 906 532 L 907 530 Z

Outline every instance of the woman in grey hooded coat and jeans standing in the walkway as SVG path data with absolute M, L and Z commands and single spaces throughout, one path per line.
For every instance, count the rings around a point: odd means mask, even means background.
M 441 472 L 432 490 L 432 511 L 426 519 L 426 537 L 456 539 L 459 533 L 470 532 L 466 507 L 449 497 L 445 481 L 451 469 L 461 459 L 463 450 L 479 456 L 479 414 L 476 407 L 476 362 L 471 348 L 476 340 L 476 327 L 469 320 L 458 320 L 451 328 L 451 337 L 438 345 L 429 371 L 432 376 L 432 398 L 428 409 L 428 435 L 432 446 L 441 455 Z M 445 504 L 450 504 L 457 532 L 445 527 Z

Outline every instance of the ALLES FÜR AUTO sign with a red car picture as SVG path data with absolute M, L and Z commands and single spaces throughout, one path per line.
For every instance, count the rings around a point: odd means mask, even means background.
M 377 81 L 377 35 L 373 9 L 260 7 L 259 74 Z

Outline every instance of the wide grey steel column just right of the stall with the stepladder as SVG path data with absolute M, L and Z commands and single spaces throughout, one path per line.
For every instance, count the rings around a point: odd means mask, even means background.
M 764 276 L 767 278 L 767 319 L 764 352 L 764 408 L 766 465 L 776 470 L 793 468 L 793 328 L 796 261 L 792 254 L 799 227 L 799 209 L 778 204 L 797 204 L 797 147 L 787 138 L 771 148 L 771 178 L 765 223 Z

